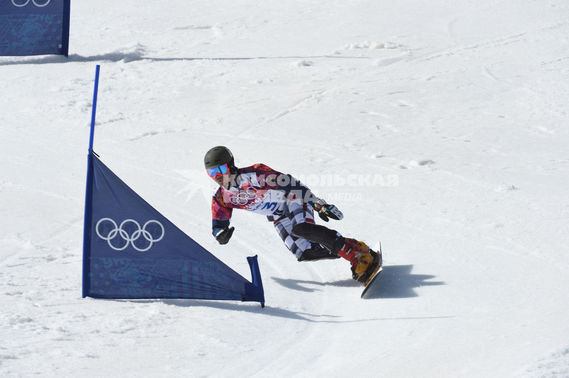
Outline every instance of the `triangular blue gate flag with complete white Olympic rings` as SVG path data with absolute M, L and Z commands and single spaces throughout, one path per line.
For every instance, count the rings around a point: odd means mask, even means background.
M 264 302 L 260 276 L 253 284 L 226 266 L 96 156 L 89 165 L 84 296 Z M 258 273 L 257 259 L 249 263 Z

